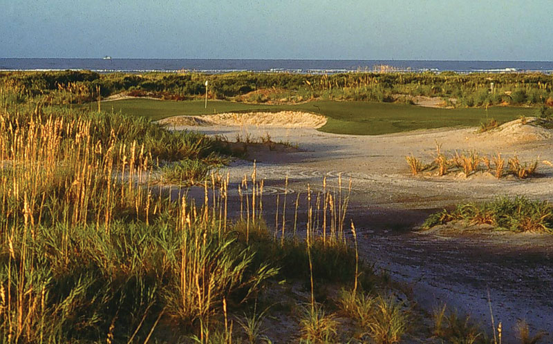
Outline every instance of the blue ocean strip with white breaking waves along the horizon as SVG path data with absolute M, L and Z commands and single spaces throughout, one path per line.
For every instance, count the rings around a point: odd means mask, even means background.
M 457 73 L 553 73 L 553 61 L 411 61 L 324 59 L 14 59 L 0 70 L 93 70 L 99 73 L 236 71 L 334 74 L 355 71 L 454 71 Z

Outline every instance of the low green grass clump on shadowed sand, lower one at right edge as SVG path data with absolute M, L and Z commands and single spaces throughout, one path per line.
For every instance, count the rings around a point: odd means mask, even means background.
M 432 214 L 422 227 L 429 229 L 454 220 L 463 220 L 467 224 L 491 224 L 498 230 L 552 233 L 553 206 L 547 201 L 532 201 L 523 197 L 459 204 L 452 211 L 444 209 Z

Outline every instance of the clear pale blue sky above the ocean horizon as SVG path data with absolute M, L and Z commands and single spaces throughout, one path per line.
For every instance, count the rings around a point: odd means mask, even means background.
M 0 0 L 0 57 L 551 61 L 550 0 Z

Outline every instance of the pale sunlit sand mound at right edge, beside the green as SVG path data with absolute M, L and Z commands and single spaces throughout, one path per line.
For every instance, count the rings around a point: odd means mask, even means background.
M 553 136 L 553 131 L 538 126 L 540 122 L 538 118 L 527 117 L 525 121 L 524 124 L 523 120 L 507 122 L 498 126 L 498 128 L 478 135 L 492 140 L 509 140 L 517 142 L 546 140 Z

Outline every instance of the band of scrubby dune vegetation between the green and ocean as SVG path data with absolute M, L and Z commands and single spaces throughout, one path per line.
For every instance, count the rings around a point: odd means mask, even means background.
M 100 87 L 108 97 L 127 91 L 135 96 L 159 99 L 194 99 L 205 94 L 209 80 L 211 99 L 238 102 L 305 102 L 307 100 L 355 100 L 393 102 L 399 95 L 406 102 L 426 96 L 457 99 L 458 106 L 498 104 L 553 104 L 553 76 L 540 73 L 339 73 L 301 75 L 294 73 L 109 73 L 88 71 L 3 72 L 0 77 L 24 87 L 33 95 L 56 90 L 49 101 L 66 104 L 87 102 L 97 95 L 86 89 Z M 493 86 L 492 86 L 493 84 Z M 80 90 L 83 90 L 82 92 Z M 409 96 L 409 97 L 406 97 Z

